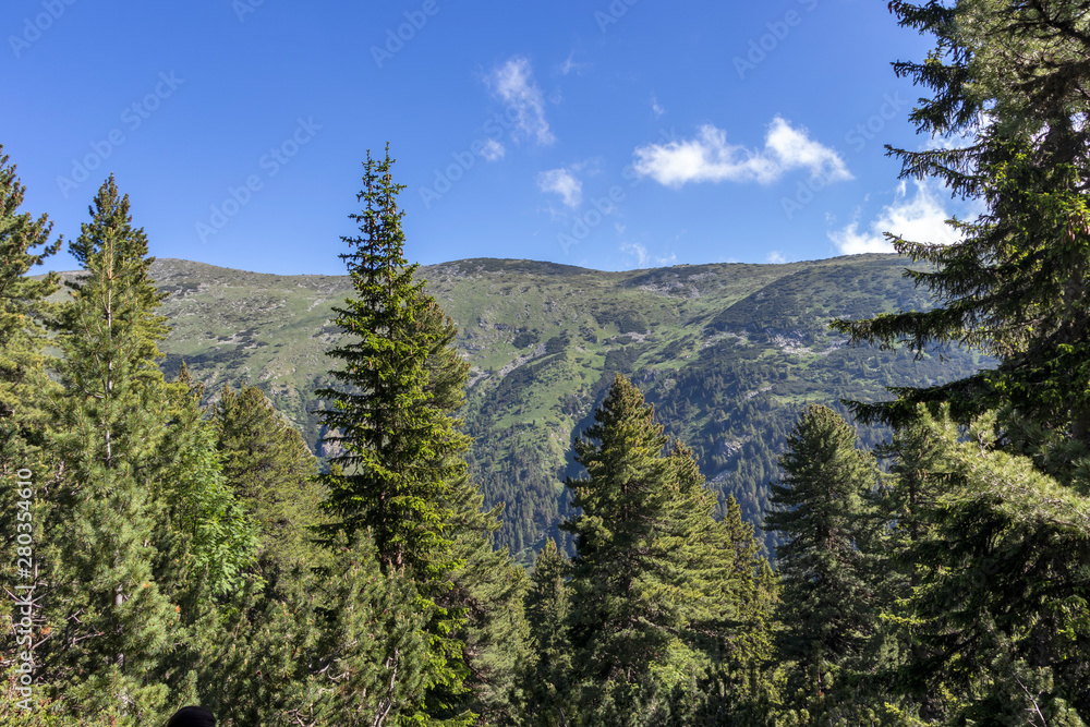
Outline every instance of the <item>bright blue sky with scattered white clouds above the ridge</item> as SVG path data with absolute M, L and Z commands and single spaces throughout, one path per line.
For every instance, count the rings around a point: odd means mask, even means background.
M 389 142 L 410 259 L 629 269 L 940 241 L 903 183 L 927 38 L 874 0 L 8 0 L 0 144 L 78 234 L 111 171 L 152 253 L 339 275 Z M 56 269 L 76 267 L 59 256 Z

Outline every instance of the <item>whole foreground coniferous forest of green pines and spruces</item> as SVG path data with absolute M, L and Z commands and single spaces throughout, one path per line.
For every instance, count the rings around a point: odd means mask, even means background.
M 343 239 L 320 461 L 259 389 L 205 405 L 162 373 L 112 177 L 63 302 L 28 277 L 63 241 L 0 154 L 0 723 L 1090 723 L 1090 3 L 889 7 L 934 43 L 894 70 L 946 143 L 888 152 L 983 211 L 954 244 L 893 237 L 927 310 L 829 325 L 996 365 L 806 408 L 756 524 L 618 374 L 530 568 L 468 465 L 469 364 L 389 147 Z

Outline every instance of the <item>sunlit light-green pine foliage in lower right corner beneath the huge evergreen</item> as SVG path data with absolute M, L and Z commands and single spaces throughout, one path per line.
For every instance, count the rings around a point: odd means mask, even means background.
M 919 644 L 905 669 L 910 693 L 943 695 L 932 708 L 950 720 L 1090 717 L 1090 502 L 1000 450 L 994 415 L 968 441 L 946 419 L 921 413 L 917 427 L 944 486 L 921 507 L 931 526 L 901 556 L 918 569 L 907 615 Z

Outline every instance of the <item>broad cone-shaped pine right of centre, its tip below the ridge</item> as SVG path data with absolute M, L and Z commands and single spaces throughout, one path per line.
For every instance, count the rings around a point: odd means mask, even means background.
M 653 408 L 618 375 L 576 440 L 586 478 L 569 480 L 574 702 L 590 724 L 644 724 L 703 676 L 722 647 L 708 627 L 731 608 L 731 553 L 691 452 L 669 453 Z M 695 474 L 694 474 L 695 473 Z

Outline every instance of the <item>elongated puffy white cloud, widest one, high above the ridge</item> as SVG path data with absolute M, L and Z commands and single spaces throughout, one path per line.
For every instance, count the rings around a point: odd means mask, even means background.
M 638 147 L 635 171 L 659 184 L 689 182 L 758 182 L 771 184 L 791 169 L 808 169 L 826 183 L 852 179 L 840 156 L 814 142 L 806 129 L 794 129 L 780 117 L 773 119 L 763 149 L 727 144 L 727 133 L 711 124 L 697 138 Z

